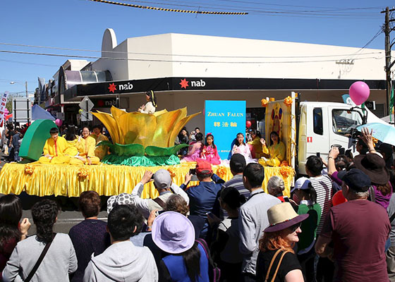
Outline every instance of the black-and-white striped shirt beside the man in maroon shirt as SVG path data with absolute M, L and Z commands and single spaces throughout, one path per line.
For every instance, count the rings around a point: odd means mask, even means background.
M 317 236 L 321 233 L 322 226 L 332 207 L 332 180 L 329 176 L 316 176 L 309 178 L 312 188 L 317 193 L 317 203 L 321 207 L 321 219 L 317 228 Z

